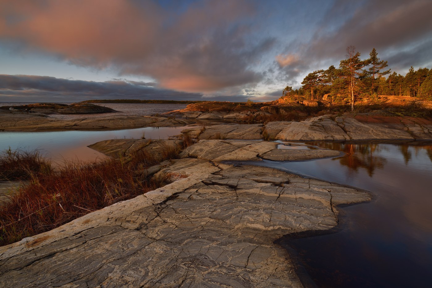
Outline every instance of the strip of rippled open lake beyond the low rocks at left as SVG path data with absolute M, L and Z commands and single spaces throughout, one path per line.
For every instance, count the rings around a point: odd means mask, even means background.
M 31 104 L 30 102 L 0 102 L 0 106 L 19 106 Z M 63 104 L 71 104 L 71 103 L 63 103 Z M 85 115 L 50 115 L 54 118 L 59 119 L 76 119 L 76 118 L 91 118 L 91 117 L 100 117 L 110 116 L 110 115 L 137 115 L 137 116 L 145 116 L 145 115 L 153 115 L 165 113 L 172 110 L 179 110 L 185 108 L 186 104 L 150 104 L 150 103 L 93 103 L 98 106 L 105 106 L 112 108 L 120 113 L 103 113 L 103 114 L 85 114 Z

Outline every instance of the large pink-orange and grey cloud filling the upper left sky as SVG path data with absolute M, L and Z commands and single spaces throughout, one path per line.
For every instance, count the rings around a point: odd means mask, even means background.
M 181 13 L 153 1 L 17 0 L 0 2 L 0 11 L 0 38 L 25 52 L 146 75 L 183 91 L 260 81 L 250 64 L 273 45 L 271 38 L 246 39 L 255 13 L 246 0 L 201 1 Z

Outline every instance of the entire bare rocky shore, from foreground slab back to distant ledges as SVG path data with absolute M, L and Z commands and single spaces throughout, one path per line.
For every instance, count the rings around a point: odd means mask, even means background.
M 343 185 L 244 164 L 249 160 L 297 161 L 343 155 L 311 145 L 281 149 L 289 147 L 261 140 L 432 140 L 432 119 L 427 117 L 378 111 L 239 123 L 235 120 L 251 115 L 288 115 L 292 107 L 274 103 L 260 109 L 221 105 L 192 104 L 165 116 L 73 120 L 0 110 L 3 131 L 198 124 L 185 127 L 173 140 L 113 139 L 90 145 L 110 157 L 127 159 L 139 150 L 157 155 L 166 147 L 178 147 L 184 135 L 196 141 L 181 151 L 180 159 L 137 171 L 165 183 L 162 188 L 0 247 L 0 285 L 303 287 L 295 263 L 274 242 L 290 233 L 331 229 L 338 223 L 337 205 L 371 197 Z M 202 119 L 231 119 L 232 123 L 204 125 Z

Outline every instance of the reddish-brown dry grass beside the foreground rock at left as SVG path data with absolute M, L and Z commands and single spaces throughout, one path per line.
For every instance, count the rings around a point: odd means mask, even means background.
M 162 161 L 177 158 L 181 149 L 193 143 L 187 136 L 183 140 L 181 145 L 164 147 Z M 29 156 L 45 163 L 37 151 Z M 138 172 L 156 163 L 159 161 L 152 154 L 139 150 L 127 159 L 67 162 L 49 172 L 30 171 L 25 174 L 29 176 L 29 184 L 21 186 L 0 206 L 0 245 L 54 229 L 92 211 L 163 186 L 162 182 Z

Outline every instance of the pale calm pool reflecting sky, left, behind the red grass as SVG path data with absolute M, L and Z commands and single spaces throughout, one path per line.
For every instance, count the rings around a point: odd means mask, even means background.
M 41 150 L 54 160 L 93 161 L 105 157 L 89 147 L 90 144 L 108 139 L 136 138 L 145 134 L 146 139 L 166 139 L 180 134 L 185 127 L 146 127 L 108 131 L 48 131 L 48 132 L 8 132 L 0 131 L 0 151 L 11 147 L 23 150 Z

